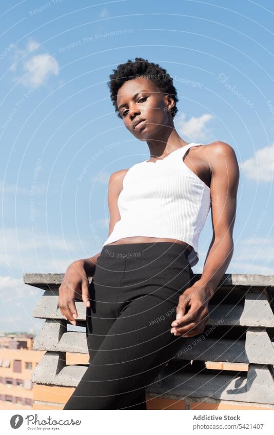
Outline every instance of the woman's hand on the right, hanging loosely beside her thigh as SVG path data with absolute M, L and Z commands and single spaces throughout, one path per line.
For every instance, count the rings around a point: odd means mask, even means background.
M 175 336 L 194 337 L 201 334 L 209 318 L 210 296 L 203 285 L 197 282 L 179 297 L 176 320 L 171 323 L 170 332 Z

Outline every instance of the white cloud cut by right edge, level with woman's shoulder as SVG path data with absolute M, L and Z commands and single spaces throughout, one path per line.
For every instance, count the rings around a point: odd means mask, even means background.
M 244 175 L 255 181 L 271 181 L 274 175 L 274 143 L 256 151 L 253 157 L 240 163 Z

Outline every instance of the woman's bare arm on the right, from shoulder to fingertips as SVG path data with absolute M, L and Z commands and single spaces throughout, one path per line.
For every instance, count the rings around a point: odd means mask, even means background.
M 170 332 L 194 337 L 203 332 L 209 318 L 208 303 L 217 289 L 233 254 L 233 226 L 236 218 L 239 166 L 227 143 L 210 144 L 207 157 L 211 167 L 211 216 L 213 237 L 201 278 L 179 297 L 176 320 Z

